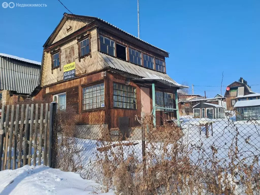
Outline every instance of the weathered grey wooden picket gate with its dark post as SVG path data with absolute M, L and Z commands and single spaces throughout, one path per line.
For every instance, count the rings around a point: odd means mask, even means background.
M 24 165 L 51 166 L 52 132 L 57 103 L 2 105 L 0 170 Z

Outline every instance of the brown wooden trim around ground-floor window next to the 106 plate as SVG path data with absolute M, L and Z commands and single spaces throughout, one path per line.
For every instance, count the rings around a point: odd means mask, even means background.
M 97 85 L 97 84 L 101 84 L 101 83 L 104 83 L 104 102 L 106 102 L 106 86 L 105 86 L 105 80 L 101 80 L 101 81 L 98 81 L 98 82 L 92 82 L 92 83 L 87 83 L 87 84 L 82 84 L 80 86 L 80 91 L 79 91 L 79 97 L 80 97 L 80 101 L 79 101 L 79 106 L 80 106 L 80 111 L 81 113 L 86 113 L 86 112 L 96 112 L 96 111 L 100 111 L 100 110 L 105 110 L 106 109 L 106 104 L 105 104 L 105 107 L 101 107 L 101 108 L 92 108 L 92 109 L 88 109 L 88 110 L 83 110 L 83 88 L 85 87 L 89 87 L 89 86 L 93 86 L 93 85 Z

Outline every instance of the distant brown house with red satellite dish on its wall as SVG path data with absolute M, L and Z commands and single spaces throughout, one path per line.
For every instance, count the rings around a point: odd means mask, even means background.
M 228 89 L 228 90 L 227 90 Z M 224 97 L 226 98 L 227 110 L 232 110 L 237 97 L 254 94 L 255 92 L 245 83 L 235 81 L 227 86 Z

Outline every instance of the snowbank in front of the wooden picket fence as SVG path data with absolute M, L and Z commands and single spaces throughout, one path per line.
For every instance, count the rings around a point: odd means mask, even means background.
M 0 194 L 114 195 L 112 190 L 102 192 L 103 187 L 92 180 L 82 179 L 77 173 L 63 172 L 43 165 L 25 165 L 16 170 L 0 171 Z

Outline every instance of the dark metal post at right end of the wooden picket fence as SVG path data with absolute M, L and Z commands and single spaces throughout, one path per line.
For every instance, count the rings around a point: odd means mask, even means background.
M 53 167 L 52 164 L 52 153 L 53 153 L 53 131 L 54 131 L 54 121 L 55 121 L 55 115 L 57 113 L 57 103 L 51 102 L 50 103 L 50 123 L 49 123 L 49 159 L 48 159 L 48 165 L 49 167 Z

